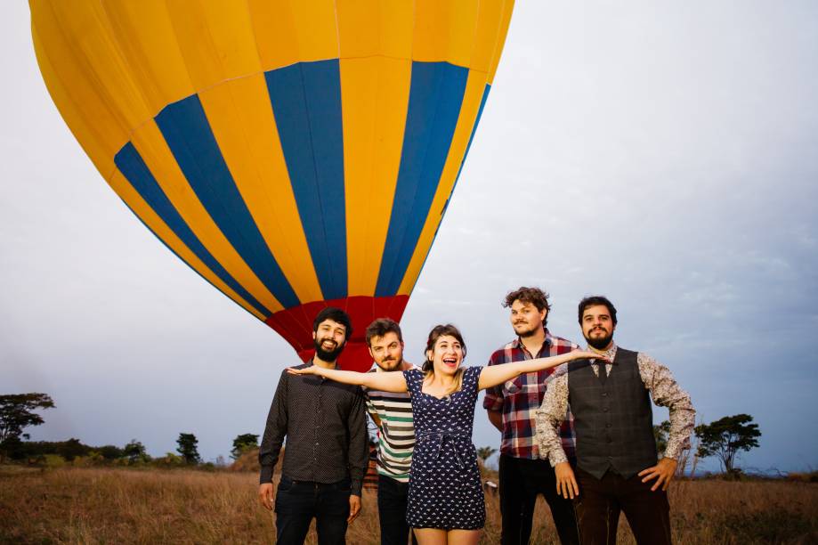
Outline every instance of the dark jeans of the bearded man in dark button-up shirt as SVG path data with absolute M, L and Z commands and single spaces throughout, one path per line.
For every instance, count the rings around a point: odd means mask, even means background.
M 346 543 L 350 480 L 332 484 L 293 481 L 281 476 L 276 491 L 276 540 L 280 545 L 301 545 L 315 517 L 320 545 Z

